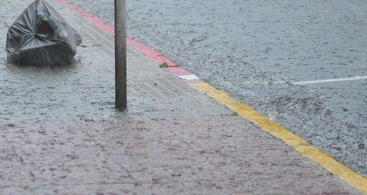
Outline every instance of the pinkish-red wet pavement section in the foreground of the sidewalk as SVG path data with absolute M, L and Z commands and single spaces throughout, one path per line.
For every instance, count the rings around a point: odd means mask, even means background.
M 238 116 L 8 124 L 1 132 L 2 194 L 356 193 Z

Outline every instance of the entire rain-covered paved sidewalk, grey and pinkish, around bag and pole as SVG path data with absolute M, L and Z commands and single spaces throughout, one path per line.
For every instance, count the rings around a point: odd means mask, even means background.
M 361 194 L 128 47 L 114 109 L 113 37 L 49 1 L 83 37 L 75 64 L 6 64 L 1 9 L 0 194 Z

